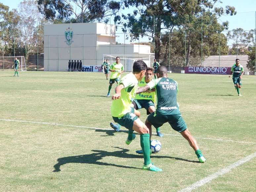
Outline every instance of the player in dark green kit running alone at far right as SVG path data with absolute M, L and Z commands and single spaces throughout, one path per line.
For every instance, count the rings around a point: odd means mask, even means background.
M 232 75 L 232 73 L 233 73 L 233 82 L 235 85 L 235 89 L 237 91 L 238 96 L 241 96 L 241 94 L 240 94 L 240 88 L 242 85 L 241 79 L 244 74 L 244 70 L 243 70 L 243 66 L 240 65 L 239 59 L 235 59 L 235 64 L 231 68 L 229 77 Z

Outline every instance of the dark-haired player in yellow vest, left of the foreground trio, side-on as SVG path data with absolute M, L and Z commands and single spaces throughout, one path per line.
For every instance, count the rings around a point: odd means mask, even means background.
M 118 58 L 119 59 L 119 58 Z M 111 68 L 111 67 L 110 67 Z M 136 131 L 140 134 L 140 144 L 143 150 L 144 165 L 143 170 L 162 171 L 154 166 L 150 160 L 150 145 L 149 145 L 149 129 L 136 116 L 134 108 L 131 107 L 131 100 L 136 94 L 138 88 L 138 80 L 141 81 L 145 75 L 147 64 L 138 60 L 133 64 L 133 72 L 125 75 L 115 88 L 115 94 L 112 96 L 111 115 L 116 123 L 128 129 L 128 137 L 125 141 L 129 145 L 135 139 Z

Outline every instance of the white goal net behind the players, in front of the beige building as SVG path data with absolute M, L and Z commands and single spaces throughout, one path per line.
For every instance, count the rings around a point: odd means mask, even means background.
M 137 60 L 143 60 L 149 67 L 153 66 L 154 56 L 153 55 L 103 55 L 103 59 L 108 60 L 111 65 L 115 62 L 115 58 L 120 58 L 120 63 L 124 66 L 124 71 L 132 71 L 133 63 Z

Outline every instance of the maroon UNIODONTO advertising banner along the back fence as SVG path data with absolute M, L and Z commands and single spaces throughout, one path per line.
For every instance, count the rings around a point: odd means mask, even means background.
M 231 67 L 184 67 L 185 73 L 198 73 L 198 74 L 230 74 Z

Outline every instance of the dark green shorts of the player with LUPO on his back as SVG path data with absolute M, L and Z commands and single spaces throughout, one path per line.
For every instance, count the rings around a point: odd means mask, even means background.
M 172 129 L 177 132 L 183 132 L 187 129 L 187 125 L 181 115 L 156 115 L 151 113 L 147 120 L 155 128 L 161 127 L 164 123 L 168 122 Z

